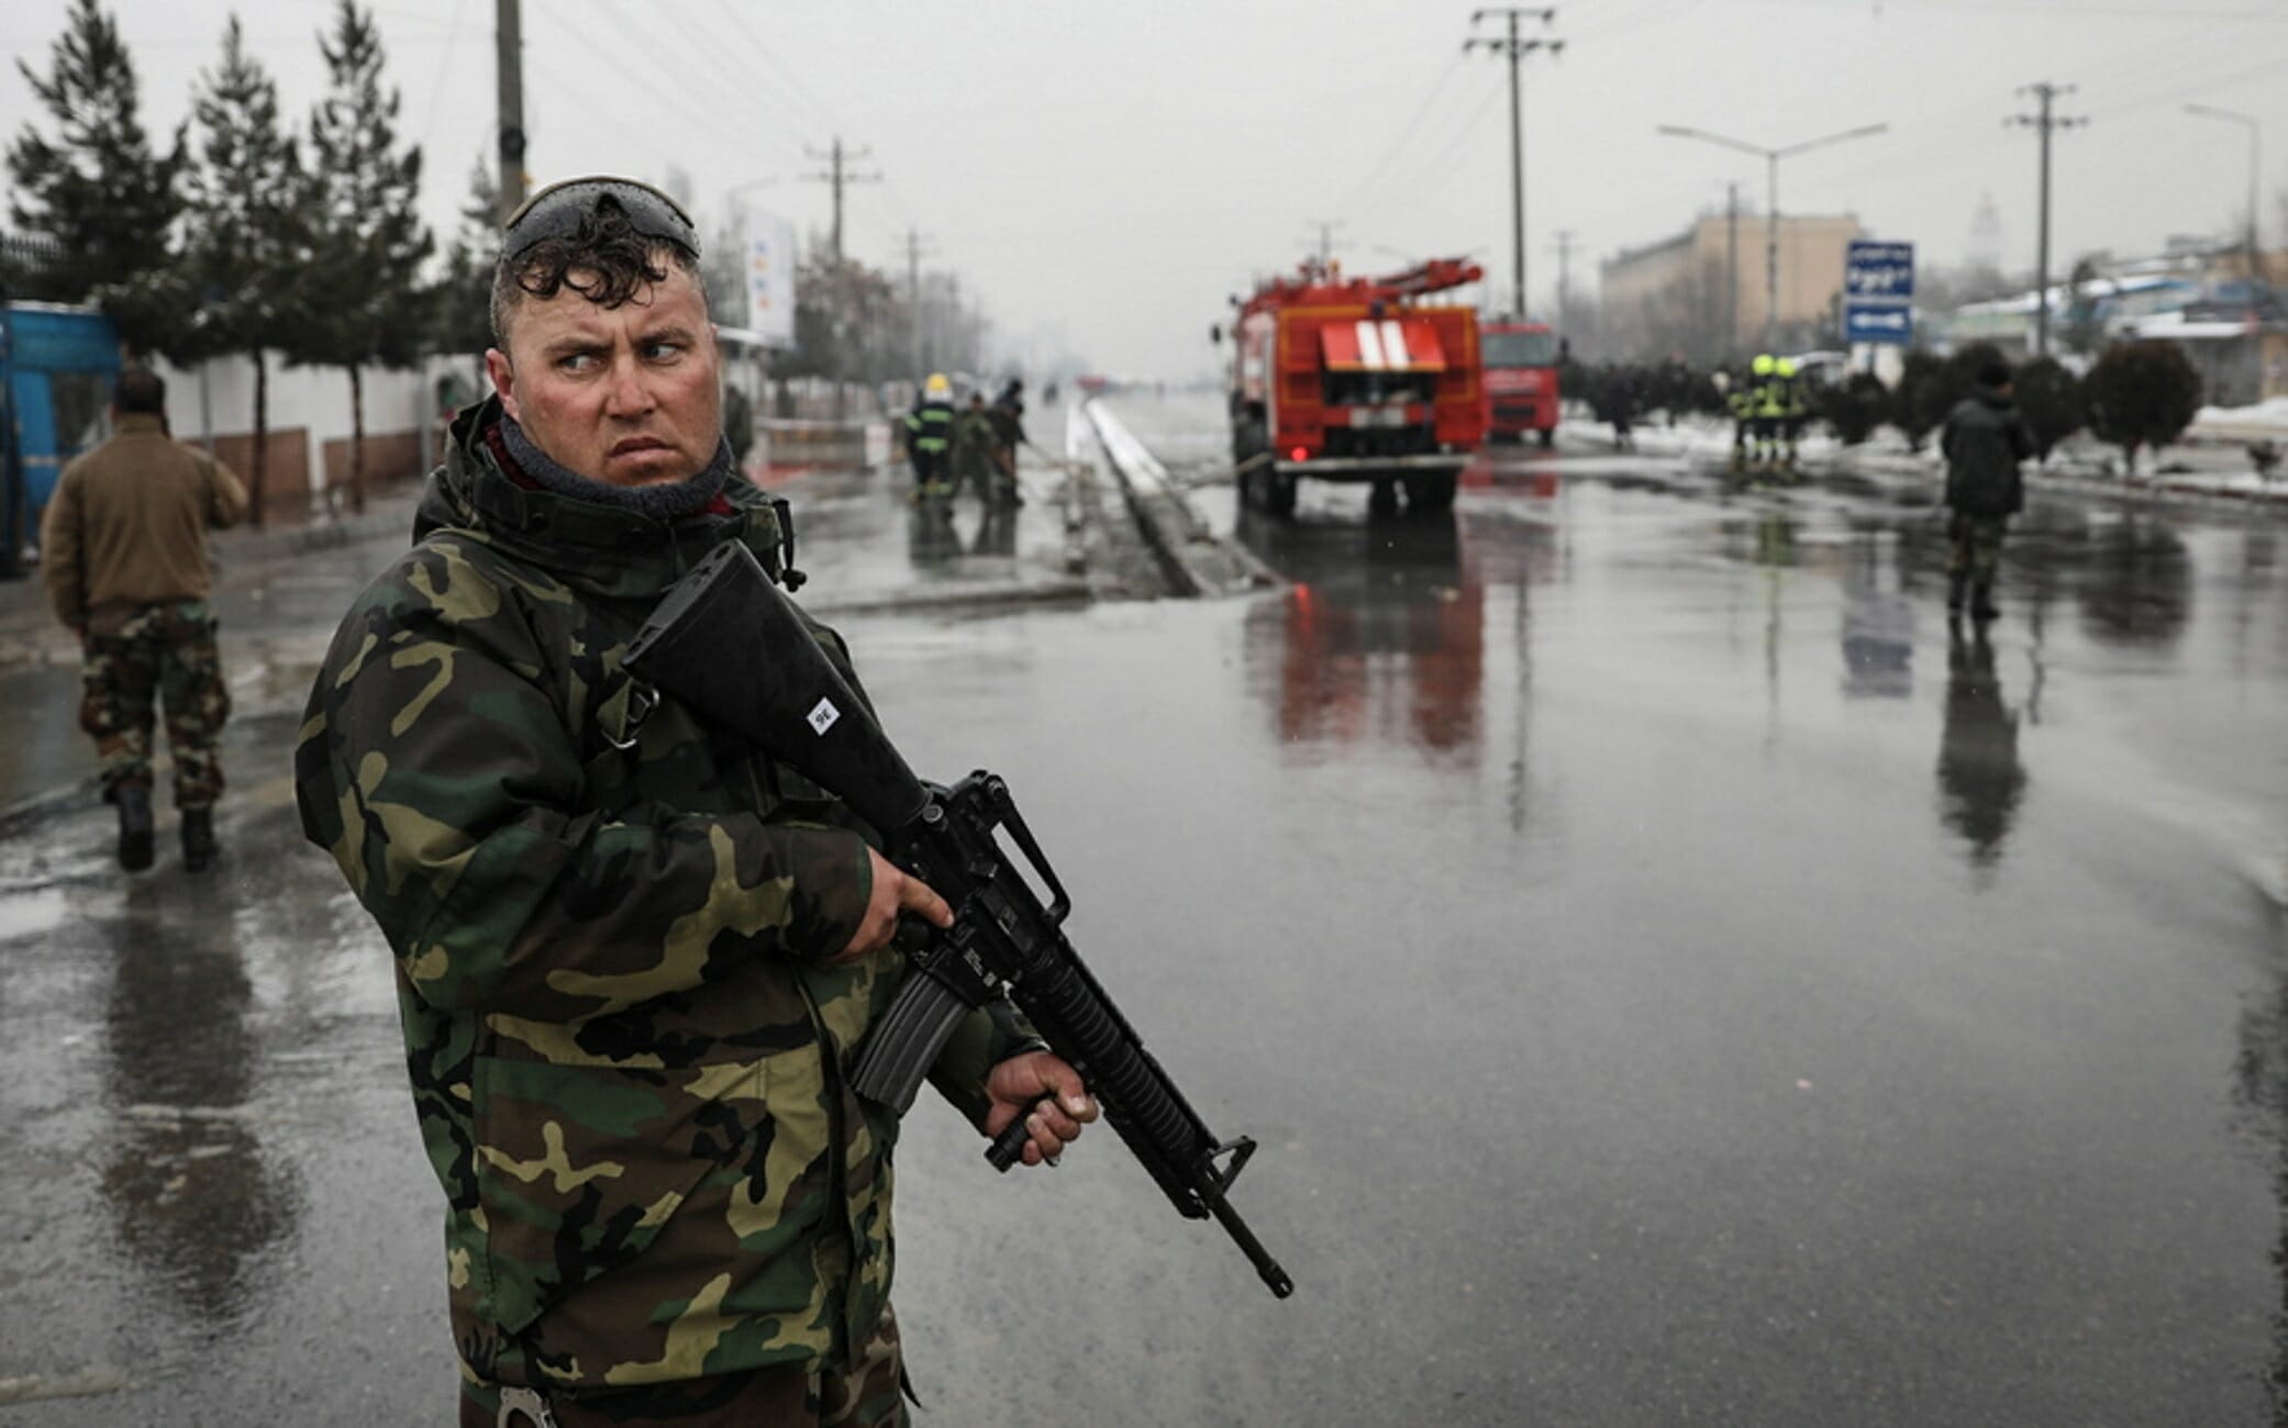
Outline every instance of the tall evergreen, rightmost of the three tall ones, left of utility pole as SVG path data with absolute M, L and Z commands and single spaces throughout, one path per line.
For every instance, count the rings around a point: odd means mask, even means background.
M 300 362 L 350 373 L 350 508 L 366 508 L 364 368 L 412 366 L 428 334 L 421 263 L 430 236 L 416 208 L 421 149 L 398 151 L 398 92 L 382 87 L 373 11 L 341 0 L 320 34 L 329 89 L 309 117 L 311 254 L 302 265 Z

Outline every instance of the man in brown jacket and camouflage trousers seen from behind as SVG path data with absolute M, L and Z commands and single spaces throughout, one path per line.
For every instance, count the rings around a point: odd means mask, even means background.
M 229 467 L 167 435 L 167 382 L 119 373 L 112 437 L 55 483 L 39 526 L 48 604 L 87 654 L 80 728 L 96 741 L 103 799 L 119 810 L 119 865 L 151 867 L 151 725 L 162 705 L 174 753 L 183 867 L 213 865 L 222 723 L 231 691 L 206 595 L 206 533 L 247 513 Z

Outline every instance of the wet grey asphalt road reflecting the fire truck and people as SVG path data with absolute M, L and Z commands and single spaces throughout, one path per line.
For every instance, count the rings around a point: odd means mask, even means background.
M 1213 398 L 1117 410 L 1220 465 Z M 1002 1181 L 924 1101 L 924 1421 L 2283 1421 L 2277 517 L 2039 497 L 1956 641 L 1926 485 L 1567 449 L 1451 522 L 1206 487 L 1254 597 L 950 600 L 1055 584 L 1043 492 L 1002 554 L 796 487 L 805 595 L 920 771 L 1009 778 L 1297 1295 L 1110 1135 Z M 391 545 L 233 595 L 222 876 L 0 842 L 0 1423 L 446 1421 L 384 952 L 284 783 Z

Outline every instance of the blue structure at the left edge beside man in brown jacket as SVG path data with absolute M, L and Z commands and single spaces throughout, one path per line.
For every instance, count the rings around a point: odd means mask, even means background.
M 23 574 L 23 549 L 55 481 L 103 439 L 119 378 L 119 332 L 92 307 L 9 302 L 0 309 L 0 403 L 7 423 L 0 492 L 0 574 Z

